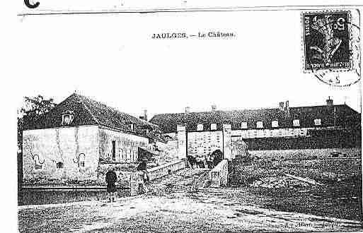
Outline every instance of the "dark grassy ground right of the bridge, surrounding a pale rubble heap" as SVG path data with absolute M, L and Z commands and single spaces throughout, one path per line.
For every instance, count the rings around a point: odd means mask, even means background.
M 323 186 L 280 189 L 251 188 L 249 184 L 265 177 L 293 174 L 308 177 Z M 360 159 L 268 159 L 231 162 L 229 184 L 246 186 L 255 196 L 253 203 L 265 208 L 313 215 L 362 220 L 362 165 Z

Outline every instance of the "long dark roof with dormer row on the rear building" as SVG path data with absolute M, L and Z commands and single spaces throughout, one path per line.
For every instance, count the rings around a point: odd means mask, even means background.
M 190 112 L 157 114 L 149 122 L 160 127 L 163 133 L 176 131 L 177 125 L 187 125 L 188 131 L 196 131 L 197 124 L 203 124 L 203 129 L 210 130 L 210 124 L 217 124 L 217 130 L 223 124 L 231 124 L 232 129 L 241 129 L 241 122 L 247 122 L 248 129 L 256 129 L 256 122 L 263 121 L 264 129 L 272 129 L 272 121 L 277 120 L 279 128 L 292 127 L 292 120 L 299 119 L 301 127 L 314 126 L 314 119 L 322 119 L 322 125 L 345 124 L 347 117 L 350 120 L 359 118 L 360 114 L 346 104 L 310 107 L 289 107 L 287 109 L 243 109 L 232 111 Z M 360 124 L 360 121 L 359 121 Z

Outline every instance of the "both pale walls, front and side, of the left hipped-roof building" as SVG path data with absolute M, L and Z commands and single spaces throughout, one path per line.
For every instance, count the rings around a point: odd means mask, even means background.
M 105 185 L 110 164 L 102 158 L 114 162 L 120 184 L 129 186 L 139 146 L 148 147 L 149 139 L 99 126 L 23 131 L 23 185 Z

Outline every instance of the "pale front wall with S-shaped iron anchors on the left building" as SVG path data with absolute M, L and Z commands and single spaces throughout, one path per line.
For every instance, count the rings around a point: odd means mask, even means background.
M 23 183 L 96 180 L 98 145 L 98 126 L 23 131 Z

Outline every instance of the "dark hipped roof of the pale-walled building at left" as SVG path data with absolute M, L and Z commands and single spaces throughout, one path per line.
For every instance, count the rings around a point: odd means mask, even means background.
M 62 126 L 62 114 L 74 112 L 74 120 L 69 126 L 98 124 L 114 129 L 129 131 L 128 124 L 135 124 L 138 129 L 158 129 L 159 127 L 132 115 L 108 107 L 89 97 L 72 94 L 66 100 L 57 104 L 47 114 L 39 117 L 27 129 L 47 129 Z

